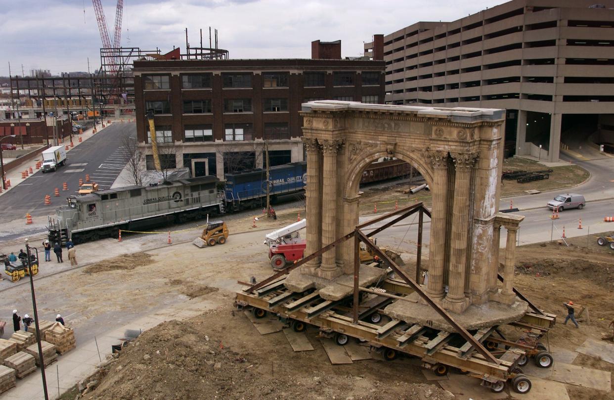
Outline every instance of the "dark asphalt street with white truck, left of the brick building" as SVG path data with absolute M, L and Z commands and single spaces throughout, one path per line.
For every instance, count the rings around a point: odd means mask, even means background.
M 55 208 L 66 204 L 68 195 L 79 190 L 79 178 L 85 182 L 99 184 L 99 189 L 109 189 L 115 178 L 126 165 L 126 154 L 122 147 L 125 135 L 136 135 L 135 124 L 112 124 L 100 133 L 87 139 L 67 153 L 67 162 L 55 172 L 37 171 L 26 181 L 18 184 L 0 196 L 2 218 L 12 220 L 24 218 L 26 213 L 33 216 L 55 214 Z M 68 191 L 62 190 L 63 182 Z M 55 188 L 60 189 L 60 197 L 55 197 Z M 45 205 L 45 195 L 51 196 L 52 205 Z

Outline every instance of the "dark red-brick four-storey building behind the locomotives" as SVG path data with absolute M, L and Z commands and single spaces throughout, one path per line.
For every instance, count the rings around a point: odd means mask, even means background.
M 271 166 L 303 161 L 302 103 L 384 101 L 384 61 L 318 58 L 340 55 L 340 48 L 316 41 L 311 59 L 135 61 L 137 135 L 147 168 L 149 110 L 158 143 L 174 143 L 174 154 L 160 151 L 162 162 L 193 176 L 262 167 L 265 141 Z

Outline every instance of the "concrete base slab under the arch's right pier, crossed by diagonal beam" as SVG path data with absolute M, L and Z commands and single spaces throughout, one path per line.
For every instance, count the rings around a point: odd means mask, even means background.
M 412 293 L 405 300 L 397 300 L 384 308 L 384 313 L 397 320 L 408 323 L 418 323 L 442 331 L 452 332 L 450 326 L 430 305 L 418 302 L 418 294 Z M 450 312 L 454 320 L 465 329 L 481 329 L 500 324 L 518 321 L 528 310 L 526 302 L 517 299 L 512 305 L 488 302 L 483 305 L 470 305 L 465 312 L 458 314 Z

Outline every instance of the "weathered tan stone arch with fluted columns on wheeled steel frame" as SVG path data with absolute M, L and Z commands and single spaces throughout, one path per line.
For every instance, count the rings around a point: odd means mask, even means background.
M 459 313 L 471 304 L 515 301 L 507 292 L 513 273 L 500 292 L 493 256 L 498 228 L 515 232 L 519 223 L 497 213 L 504 110 L 316 101 L 303 104 L 302 116 L 306 255 L 354 230 L 363 170 L 373 160 L 396 157 L 421 171 L 431 189 L 429 297 Z M 508 253 L 513 257 L 513 249 Z M 350 243 L 330 248 L 292 271 L 286 285 L 322 287 L 343 279 L 353 257 Z

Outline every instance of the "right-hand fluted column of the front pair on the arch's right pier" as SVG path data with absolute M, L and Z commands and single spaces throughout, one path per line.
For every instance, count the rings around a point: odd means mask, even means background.
M 444 307 L 453 312 L 463 312 L 469 305 L 465 297 L 465 269 L 467 268 L 467 228 L 469 208 L 469 186 L 476 152 L 451 153 L 456 167 L 454 177 L 454 202 L 452 215 L 452 240 L 448 295 Z

